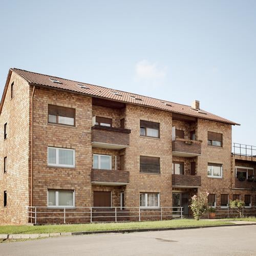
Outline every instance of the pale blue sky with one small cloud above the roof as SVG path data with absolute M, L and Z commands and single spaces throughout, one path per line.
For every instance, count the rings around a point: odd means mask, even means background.
M 8 69 L 56 75 L 201 108 L 256 145 L 256 1 L 7 1 Z

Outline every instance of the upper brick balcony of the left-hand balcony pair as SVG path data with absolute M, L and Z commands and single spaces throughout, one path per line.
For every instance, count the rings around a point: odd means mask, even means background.
M 92 146 L 121 150 L 129 146 L 130 133 L 129 129 L 94 125 L 92 127 Z

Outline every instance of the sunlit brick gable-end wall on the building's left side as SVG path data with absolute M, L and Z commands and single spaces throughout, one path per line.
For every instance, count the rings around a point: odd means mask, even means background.
M 14 97 L 11 99 L 11 83 Z M 4 141 L 4 124 L 7 139 Z M 25 224 L 29 205 L 29 85 L 12 73 L 0 116 L 0 224 Z M 4 157 L 7 172 L 4 173 Z M 4 207 L 4 190 L 7 207 Z

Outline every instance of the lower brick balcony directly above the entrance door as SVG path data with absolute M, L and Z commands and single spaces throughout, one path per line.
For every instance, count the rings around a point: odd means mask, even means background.
M 173 174 L 172 184 L 173 184 L 173 187 L 187 187 L 187 188 L 200 187 L 201 176 Z

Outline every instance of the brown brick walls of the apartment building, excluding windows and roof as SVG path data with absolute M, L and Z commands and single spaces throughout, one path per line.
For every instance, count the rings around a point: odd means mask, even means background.
M 14 97 L 10 84 L 14 81 Z M 31 204 L 31 121 L 32 92 L 22 77 L 12 73 L 0 116 L 1 159 L 7 157 L 7 172 L 0 173 L 0 224 L 25 224 L 26 206 Z M 75 126 L 48 123 L 48 104 L 75 109 Z M 113 127 L 92 127 L 94 116 L 112 118 Z M 124 129 L 120 120 L 124 118 Z M 221 194 L 252 196 L 255 205 L 255 182 L 240 182 L 235 177 L 236 166 L 253 167 L 256 161 L 236 159 L 231 155 L 231 124 L 195 118 L 178 120 L 171 112 L 126 103 L 123 108 L 94 105 L 91 96 L 74 92 L 35 87 L 33 97 L 33 206 L 47 206 L 48 189 L 75 191 L 75 206 L 93 206 L 94 191 L 111 191 L 112 206 L 120 206 L 124 192 L 125 206 L 138 207 L 140 193 L 159 193 L 160 206 L 172 206 L 172 193 L 191 196 Z M 160 138 L 140 136 L 140 120 L 160 123 Z M 7 139 L 4 124 L 7 122 Z M 184 140 L 172 139 L 172 127 L 183 130 Z M 196 141 L 190 141 L 190 132 Z M 207 132 L 223 135 L 222 147 L 207 144 Z M 92 142 L 102 143 L 95 147 Z M 105 144 L 106 146 L 104 146 Z M 123 145 L 115 148 L 110 144 Z M 75 150 L 75 167 L 48 166 L 48 146 Z M 173 155 L 173 151 L 198 156 Z M 92 169 L 93 155 L 111 155 L 112 169 Z M 140 173 L 140 156 L 160 158 L 160 174 Z M 122 163 L 121 163 L 122 159 Z M 172 174 L 173 161 L 184 163 L 184 175 Z M 195 162 L 195 175 L 190 175 L 190 164 Z M 222 178 L 207 177 L 208 163 L 223 165 Z M 105 184 L 94 184 L 103 182 Z M 107 184 L 110 183 L 110 184 Z M 127 183 L 120 185 L 118 183 Z M 3 207 L 4 191 L 7 206 Z

